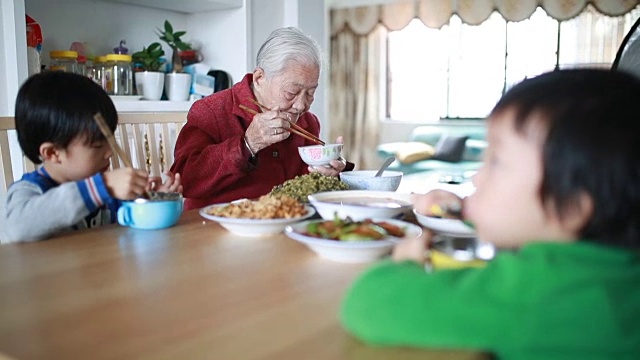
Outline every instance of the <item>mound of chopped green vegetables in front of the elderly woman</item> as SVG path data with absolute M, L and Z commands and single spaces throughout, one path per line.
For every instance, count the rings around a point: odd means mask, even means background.
M 335 176 L 324 176 L 319 173 L 299 175 L 291 180 L 275 186 L 270 195 L 288 195 L 302 203 L 308 203 L 309 195 L 335 190 L 349 190 L 349 185 Z

